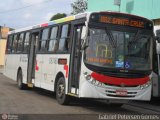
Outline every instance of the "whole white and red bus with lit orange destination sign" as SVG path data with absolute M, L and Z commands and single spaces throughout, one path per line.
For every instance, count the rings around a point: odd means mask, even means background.
M 143 17 L 92 12 L 18 29 L 9 33 L 5 72 L 20 89 L 71 96 L 149 101 L 153 23 Z

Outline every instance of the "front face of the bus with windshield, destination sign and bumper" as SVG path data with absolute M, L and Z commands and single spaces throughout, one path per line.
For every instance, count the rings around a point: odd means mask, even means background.
M 93 13 L 86 36 L 79 96 L 149 101 L 153 23 L 127 14 Z

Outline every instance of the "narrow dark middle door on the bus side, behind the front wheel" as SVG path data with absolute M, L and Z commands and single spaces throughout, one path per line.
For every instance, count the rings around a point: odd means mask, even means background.
M 27 84 L 33 87 L 33 79 L 35 79 L 35 71 L 38 70 L 36 61 L 36 49 L 38 46 L 39 32 L 31 33 L 30 50 L 28 54 Z M 40 84 L 40 83 L 39 83 Z

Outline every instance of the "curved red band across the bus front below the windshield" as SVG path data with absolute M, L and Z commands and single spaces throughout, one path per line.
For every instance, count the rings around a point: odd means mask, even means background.
M 105 76 L 105 75 L 98 74 L 95 72 L 93 72 L 91 76 L 95 80 L 98 80 L 102 83 L 107 83 L 111 85 L 124 84 L 125 86 L 143 85 L 150 80 L 149 76 L 144 77 L 144 78 L 116 78 L 116 77 Z

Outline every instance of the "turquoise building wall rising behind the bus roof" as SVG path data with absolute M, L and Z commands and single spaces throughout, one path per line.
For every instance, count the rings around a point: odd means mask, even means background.
M 119 2 L 116 5 L 115 2 Z M 88 0 L 88 11 L 120 11 L 146 17 L 160 29 L 160 0 Z

